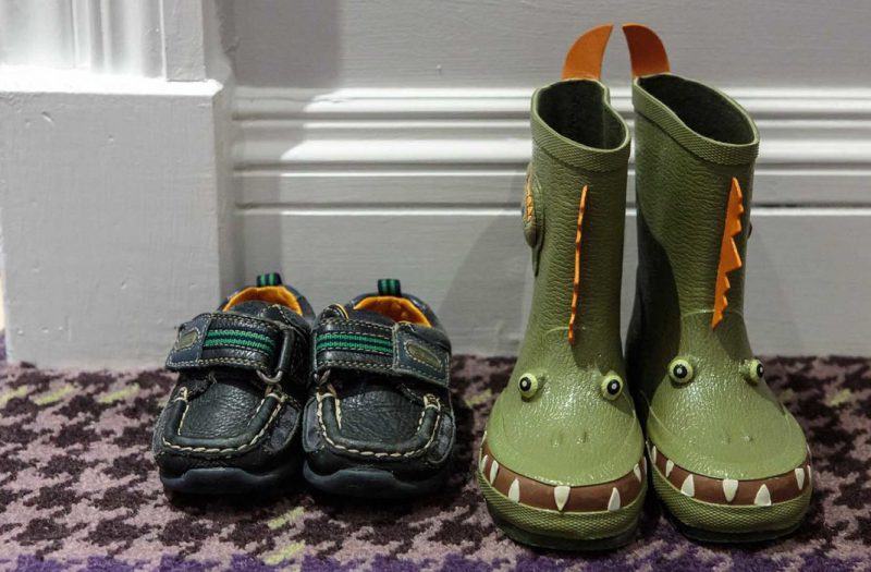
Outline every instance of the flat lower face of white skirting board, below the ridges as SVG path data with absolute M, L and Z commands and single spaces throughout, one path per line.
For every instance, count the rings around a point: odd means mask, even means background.
M 280 269 L 319 307 L 378 278 L 432 305 L 456 352 L 516 353 L 531 289 L 519 209 L 244 209 L 248 276 Z M 745 316 L 760 354 L 869 354 L 871 209 L 758 207 Z M 635 212 L 624 254 L 624 331 L 637 264 Z

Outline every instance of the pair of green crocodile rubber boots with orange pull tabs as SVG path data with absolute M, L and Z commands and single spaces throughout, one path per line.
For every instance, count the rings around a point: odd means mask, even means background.
M 599 81 L 608 25 L 584 34 L 563 80 L 532 96 L 523 199 L 532 309 L 478 482 L 500 528 L 536 546 L 629 543 L 649 480 L 688 536 L 782 536 L 801 522 L 812 484 L 801 427 L 766 385 L 743 316 L 759 134 L 729 97 L 670 73 L 653 32 L 624 33 L 638 222 L 626 356 L 630 137 Z

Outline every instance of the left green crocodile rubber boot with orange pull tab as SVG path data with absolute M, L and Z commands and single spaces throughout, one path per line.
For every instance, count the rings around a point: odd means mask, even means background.
M 547 548 L 627 544 L 647 489 L 619 332 L 629 132 L 598 81 L 610 33 L 581 36 L 564 81 L 532 96 L 532 311 L 478 464 L 495 523 Z

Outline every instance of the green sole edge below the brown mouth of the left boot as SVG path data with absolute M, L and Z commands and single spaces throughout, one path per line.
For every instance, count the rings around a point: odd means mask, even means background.
M 476 472 L 487 508 L 502 532 L 518 543 L 556 550 L 608 550 L 635 537 L 647 483 L 631 503 L 616 511 L 559 512 L 519 504 Z

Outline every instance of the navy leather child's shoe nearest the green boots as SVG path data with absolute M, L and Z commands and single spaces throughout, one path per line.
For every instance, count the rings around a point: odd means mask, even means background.
M 304 475 L 341 495 L 424 495 L 446 479 L 454 448 L 451 342 L 398 280 L 378 287 L 315 325 Z

